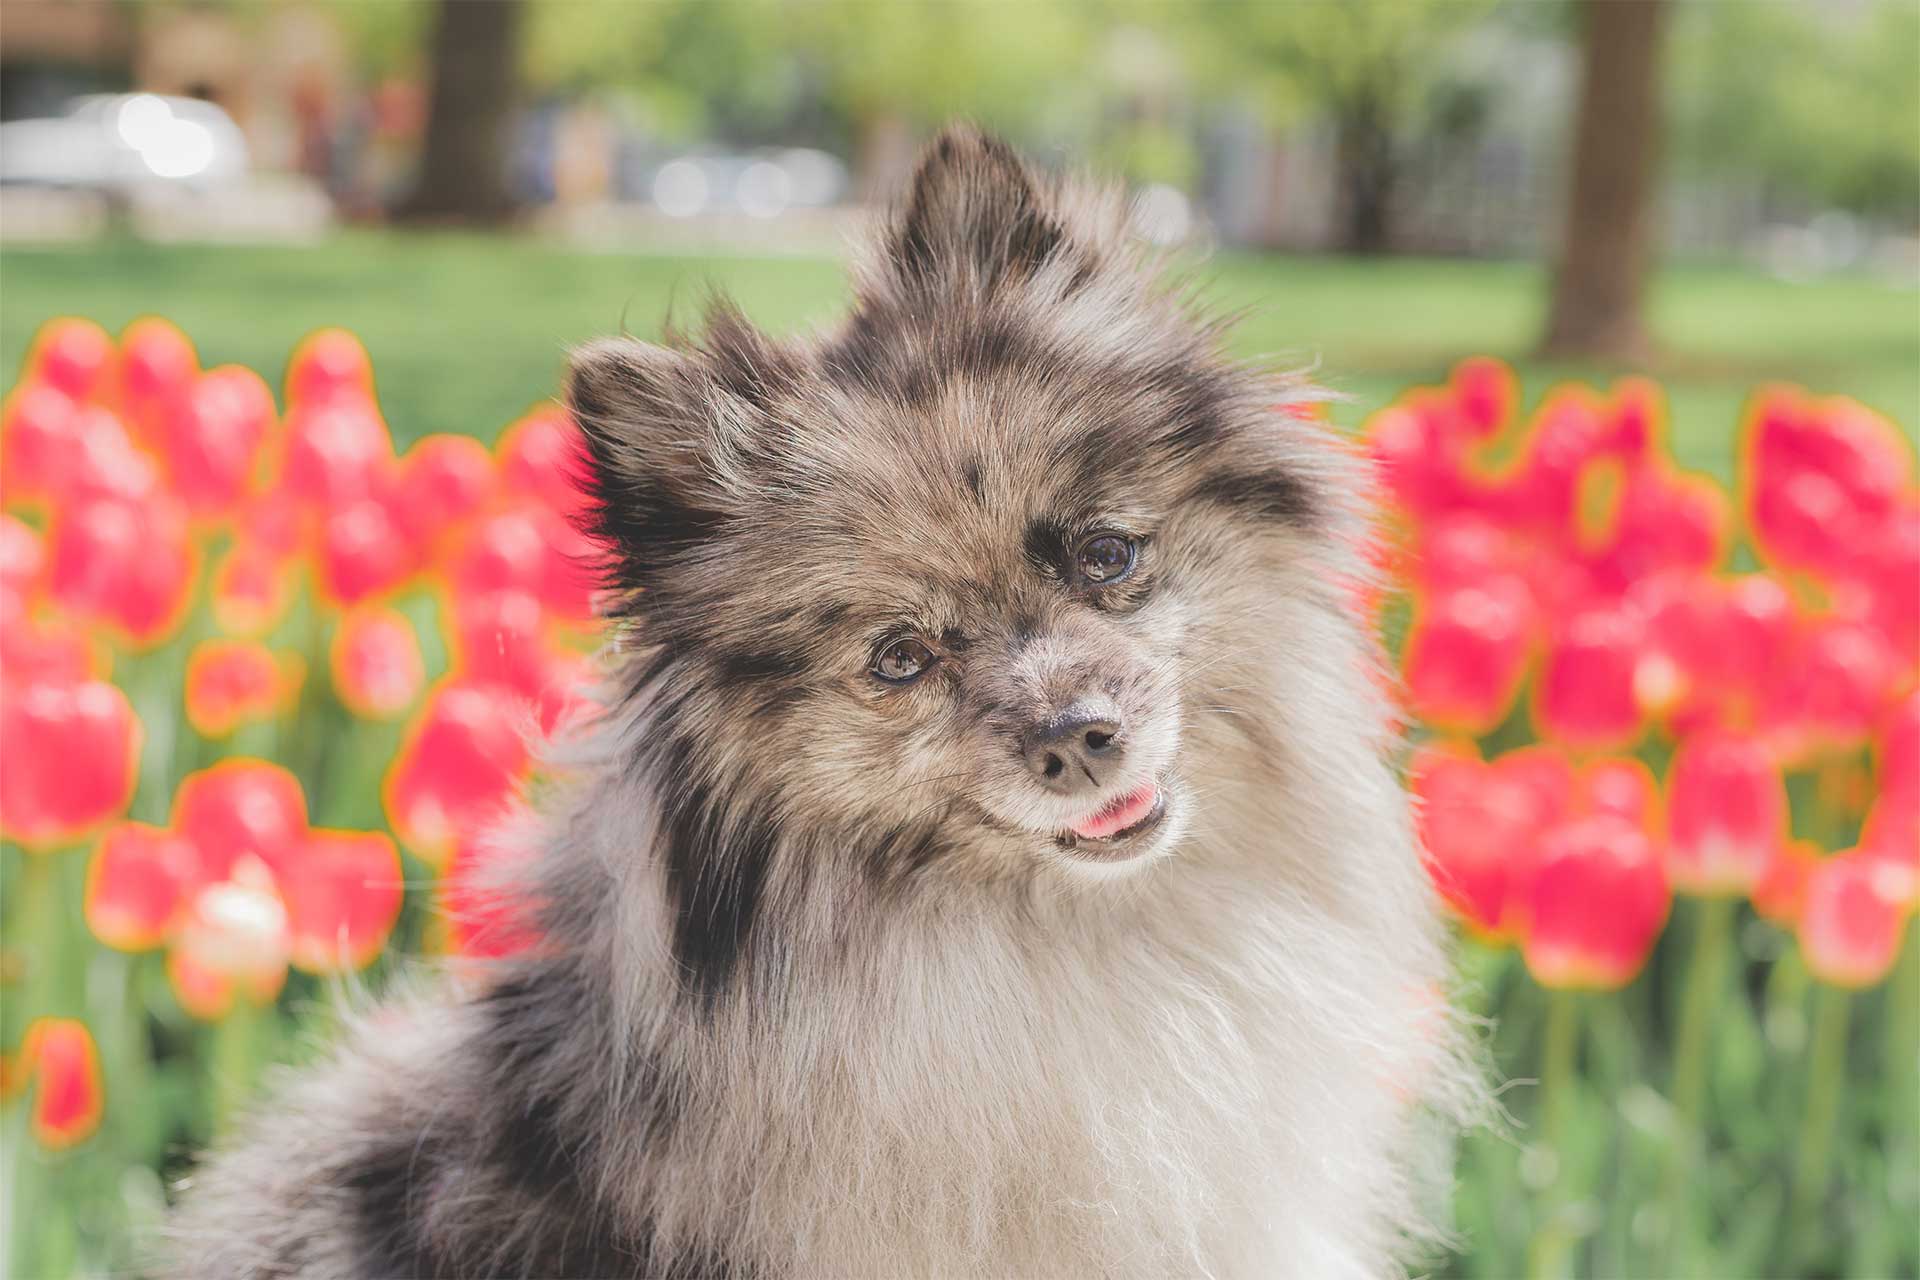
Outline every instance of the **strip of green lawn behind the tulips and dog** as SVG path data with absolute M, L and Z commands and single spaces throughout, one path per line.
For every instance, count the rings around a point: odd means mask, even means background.
M 1250 309 L 1236 330 L 1242 353 L 1315 365 L 1352 397 L 1340 411 L 1348 422 L 1463 355 L 1513 359 L 1530 397 L 1565 376 L 1626 372 L 1526 357 L 1546 305 L 1534 265 L 1221 253 L 1198 274 L 1221 305 Z M 653 336 L 670 307 L 691 320 L 710 286 L 781 332 L 829 322 L 847 296 L 826 259 L 597 253 L 468 234 L 349 232 L 319 248 L 10 248 L 0 255 L 0 368 L 12 378 L 33 330 L 56 315 L 119 328 L 159 313 L 205 363 L 269 378 L 301 334 L 344 324 L 372 351 L 401 443 L 447 430 L 490 438 L 553 393 L 570 344 L 622 324 Z M 1857 395 L 1908 436 L 1920 426 L 1920 292 L 1682 267 L 1659 278 L 1653 320 L 1665 353 L 1645 372 L 1672 395 L 1686 466 L 1730 474 L 1741 399 L 1766 380 Z

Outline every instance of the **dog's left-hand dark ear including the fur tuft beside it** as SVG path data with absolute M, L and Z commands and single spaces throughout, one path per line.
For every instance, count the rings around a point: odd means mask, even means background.
M 588 445 L 591 533 L 622 560 L 624 585 L 645 585 L 737 509 L 768 409 L 793 376 L 728 303 L 695 349 L 601 338 L 572 353 L 566 401 Z

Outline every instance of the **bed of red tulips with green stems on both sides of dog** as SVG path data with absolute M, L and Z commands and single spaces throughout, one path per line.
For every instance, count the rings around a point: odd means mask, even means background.
M 1365 428 L 1427 864 L 1500 1071 L 1544 1077 L 1469 1140 L 1469 1272 L 1920 1263 L 1836 1217 L 1920 1194 L 1912 451 L 1793 388 L 1740 430 L 1726 493 L 1655 386 L 1521 420 L 1492 361 Z M 163 320 L 40 332 L 0 416 L 21 1274 L 125 1265 L 340 983 L 524 942 L 474 835 L 591 714 L 578 459 L 553 405 L 396 453 L 338 330 L 278 401 Z

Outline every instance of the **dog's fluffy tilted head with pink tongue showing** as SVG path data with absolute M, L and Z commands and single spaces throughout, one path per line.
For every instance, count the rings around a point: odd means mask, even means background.
M 885 881 L 1148 865 L 1258 783 L 1273 606 L 1334 593 L 1338 449 L 1154 282 L 1116 194 L 972 130 L 856 292 L 814 342 L 720 303 L 574 357 L 670 875 L 737 885 L 797 833 Z M 1196 756 L 1206 716 L 1235 760 Z

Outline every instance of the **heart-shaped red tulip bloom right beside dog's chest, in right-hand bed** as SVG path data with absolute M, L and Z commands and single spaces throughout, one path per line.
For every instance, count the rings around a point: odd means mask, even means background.
M 1571 800 L 1565 758 L 1526 748 L 1482 764 L 1471 747 L 1434 745 L 1415 756 L 1409 785 L 1434 887 L 1475 933 L 1511 940 L 1538 841 Z

